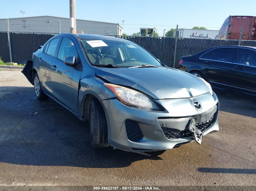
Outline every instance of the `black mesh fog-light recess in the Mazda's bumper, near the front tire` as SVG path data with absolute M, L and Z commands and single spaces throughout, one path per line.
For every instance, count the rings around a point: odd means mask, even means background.
M 138 142 L 143 138 L 143 134 L 141 132 L 140 126 L 136 121 L 127 119 L 125 121 L 125 129 L 126 129 L 127 137 L 130 141 Z

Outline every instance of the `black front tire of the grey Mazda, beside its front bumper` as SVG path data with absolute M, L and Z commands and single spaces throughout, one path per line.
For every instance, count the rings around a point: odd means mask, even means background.
M 90 140 L 93 148 L 107 147 L 108 127 L 105 112 L 97 99 L 90 103 Z

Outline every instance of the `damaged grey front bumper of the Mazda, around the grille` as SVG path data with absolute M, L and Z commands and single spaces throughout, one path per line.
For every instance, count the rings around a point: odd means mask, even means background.
M 201 102 L 201 111 L 194 109 L 195 100 Z M 103 100 L 109 145 L 133 152 L 167 150 L 194 141 L 200 132 L 206 135 L 219 130 L 215 93 L 156 101 L 167 112 L 134 109 L 117 99 Z

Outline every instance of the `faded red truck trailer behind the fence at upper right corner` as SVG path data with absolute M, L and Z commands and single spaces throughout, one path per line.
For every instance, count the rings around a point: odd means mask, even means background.
M 218 39 L 239 40 L 243 27 L 242 40 L 256 40 L 256 17 L 229 16 L 222 24 Z

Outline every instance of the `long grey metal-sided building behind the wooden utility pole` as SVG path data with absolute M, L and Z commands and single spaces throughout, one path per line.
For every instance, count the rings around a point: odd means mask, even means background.
M 69 33 L 69 18 L 39 16 L 25 18 L 9 18 L 9 32 L 15 33 Z M 7 31 L 6 19 L 0 19 L 0 32 Z M 118 23 L 107 23 L 99 21 L 87 21 L 76 19 L 76 31 L 83 31 L 86 34 L 99 35 L 122 35 L 123 29 Z

